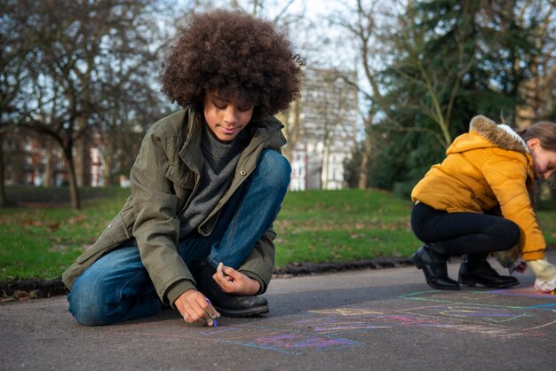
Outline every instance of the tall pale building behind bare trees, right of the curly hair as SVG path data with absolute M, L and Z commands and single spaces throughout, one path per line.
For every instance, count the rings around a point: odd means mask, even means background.
M 345 76 L 345 77 L 343 77 Z M 300 100 L 300 138 L 291 143 L 290 189 L 340 189 L 344 162 L 357 134 L 357 90 L 346 83 L 354 72 L 306 69 Z

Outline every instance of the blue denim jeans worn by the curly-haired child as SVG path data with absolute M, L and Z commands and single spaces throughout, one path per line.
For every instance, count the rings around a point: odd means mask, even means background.
M 220 210 L 209 236 L 196 232 L 179 240 L 179 255 L 192 267 L 204 259 L 237 269 L 278 215 L 290 184 L 290 163 L 264 150 L 257 168 Z M 107 325 L 153 315 L 161 310 L 155 286 L 133 244 L 109 252 L 75 280 L 69 312 L 86 326 Z

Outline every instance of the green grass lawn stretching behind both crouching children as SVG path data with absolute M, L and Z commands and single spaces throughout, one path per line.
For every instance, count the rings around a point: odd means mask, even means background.
M 83 209 L 45 206 L 65 201 L 64 188 L 9 188 L 27 206 L 0 209 L 0 280 L 59 279 L 98 237 L 130 193 L 83 188 Z M 25 196 L 23 193 L 28 193 Z M 274 229 L 276 266 L 409 257 L 419 242 L 411 233 L 411 203 L 377 190 L 290 192 Z M 539 205 L 549 244 L 556 243 L 556 202 Z

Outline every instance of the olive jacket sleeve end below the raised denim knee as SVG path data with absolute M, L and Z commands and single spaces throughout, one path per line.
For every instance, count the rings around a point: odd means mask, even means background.
M 262 237 L 255 242 L 250 255 L 243 261 L 238 271 L 257 280 L 260 284 L 256 295 L 264 294 L 274 272 L 274 239 L 276 233 L 270 227 Z

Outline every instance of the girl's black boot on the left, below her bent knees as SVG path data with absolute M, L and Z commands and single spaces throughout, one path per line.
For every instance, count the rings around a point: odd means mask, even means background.
M 421 246 L 411 260 L 417 267 L 425 273 L 426 283 L 432 288 L 444 290 L 458 290 L 457 281 L 448 277 L 446 262 L 449 255 L 440 247 L 425 244 Z

